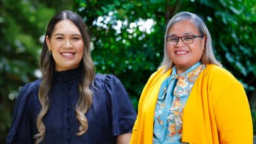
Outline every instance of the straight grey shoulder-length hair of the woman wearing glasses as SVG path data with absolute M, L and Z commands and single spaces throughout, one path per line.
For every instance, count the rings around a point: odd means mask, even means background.
M 174 64 L 172 63 L 172 60 L 170 60 L 170 57 L 168 54 L 166 38 L 169 34 L 170 28 L 175 23 L 178 23 L 179 21 L 182 21 L 182 20 L 190 21 L 194 26 L 196 26 L 200 35 L 203 35 L 206 37 L 206 43 L 204 44 L 204 51 L 203 51 L 203 55 L 201 58 L 201 63 L 205 64 L 205 65 L 206 64 L 215 64 L 215 65 L 221 66 L 220 62 L 218 62 L 218 60 L 216 60 L 216 58 L 214 57 L 213 45 L 211 42 L 211 34 L 209 33 L 208 28 L 204 24 L 203 19 L 201 19 L 196 14 L 183 11 L 183 12 L 175 14 L 167 24 L 167 28 L 166 28 L 165 36 L 164 36 L 164 60 L 162 61 L 162 64 L 160 64 L 159 69 L 162 67 L 165 67 L 164 72 L 166 72 L 167 70 L 169 70 L 171 67 L 174 66 Z

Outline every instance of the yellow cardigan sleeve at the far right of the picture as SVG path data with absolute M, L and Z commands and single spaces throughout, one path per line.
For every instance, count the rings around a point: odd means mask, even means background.
M 252 117 L 242 84 L 225 87 L 214 115 L 220 143 L 252 143 Z

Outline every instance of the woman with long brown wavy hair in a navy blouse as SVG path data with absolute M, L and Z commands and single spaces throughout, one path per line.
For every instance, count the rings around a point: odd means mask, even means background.
M 136 113 L 120 80 L 95 74 L 81 17 L 49 22 L 40 67 L 16 101 L 7 143 L 128 143 Z

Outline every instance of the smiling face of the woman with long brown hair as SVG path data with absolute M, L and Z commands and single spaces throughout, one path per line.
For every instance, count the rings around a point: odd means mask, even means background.
M 79 67 L 84 55 L 84 42 L 77 26 L 69 19 L 59 21 L 51 38 L 46 36 L 49 50 L 55 60 L 55 70 L 70 70 Z

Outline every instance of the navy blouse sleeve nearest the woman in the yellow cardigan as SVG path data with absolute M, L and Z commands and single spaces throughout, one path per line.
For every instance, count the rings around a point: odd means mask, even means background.
M 125 88 L 114 75 L 106 75 L 105 84 L 111 106 L 112 135 L 131 133 L 136 120 L 136 112 Z

